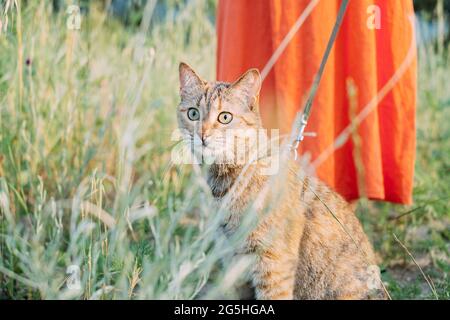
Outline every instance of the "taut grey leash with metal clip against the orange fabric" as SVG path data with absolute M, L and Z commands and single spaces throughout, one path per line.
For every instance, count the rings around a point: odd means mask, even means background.
M 294 142 L 291 144 L 291 148 L 294 151 L 295 160 L 298 158 L 298 146 L 301 141 L 303 141 L 305 136 L 314 136 L 312 133 L 305 132 L 306 125 L 308 124 L 308 119 L 311 114 L 311 107 L 314 101 L 314 98 L 317 94 L 317 89 L 320 84 L 320 80 L 322 79 L 323 71 L 325 69 L 325 65 L 330 56 L 331 49 L 333 48 L 333 44 L 336 41 L 337 34 L 342 25 L 342 20 L 344 19 L 345 12 L 347 11 L 348 3 L 350 0 L 342 0 L 341 6 L 339 7 L 339 12 L 336 18 L 336 22 L 334 24 L 333 30 L 331 32 L 330 39 L 328 40 L 327 47 L 325 49 L 325 53 L 322 57 L 322 61 L 320 62 L 319 70 L 317 71 L 313 83 L 311 85 L 311 89 L 309 91 L 308 100 L 306 101 L 305 107 L 303 108 L 303 112 L 299 111 L 297 113 L 296 119 L 294 123 L 298 123 L 298 131 L 293 128 L 293 133 L 297 131 L 296 138 Z

